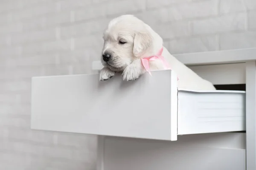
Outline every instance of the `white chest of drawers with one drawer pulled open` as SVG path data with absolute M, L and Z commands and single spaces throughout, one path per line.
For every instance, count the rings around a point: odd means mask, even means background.
M 176 57 L 246 93 L 177 89 L 170 70 L 33 77 L 31 128 L 99 135 L 97 170 L 256 170 L 256 48 Z

